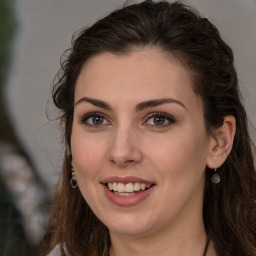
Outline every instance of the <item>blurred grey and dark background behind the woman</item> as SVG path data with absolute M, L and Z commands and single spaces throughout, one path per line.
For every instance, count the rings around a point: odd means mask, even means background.
M 72 34 L 124 0 L 0 0 L 0 248 L 33 256 L 47 225 L 63 147 L 51 86 Z M 133 3 L 136 1 L 129 1 Z M 140 1 L 137 1 L 140 2 Z M 191 0 L 232 47 L 256 127 L 256 0 Z M 49 118 L 48 118 L 48 117 Z M 254 137 L 255 141 L 255 137 Z

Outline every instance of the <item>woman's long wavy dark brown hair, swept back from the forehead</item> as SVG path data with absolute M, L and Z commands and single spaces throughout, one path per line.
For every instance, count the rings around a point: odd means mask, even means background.
M 184 64 L 194 91 L 203 101 L 205 127 L 210 133 L 226 115 L 236 118 L 234 144 L 220 167 L 220 184 L 206 169 L 203 217 L 218 256 L 256 255 L 256 191 L 252 143 L 241 104 L 233 53 L 217 28 L 181 2 L 144 1 L 112 12 L 72 40 L 53 88 L 61 110 L 66 152 L 63 173 L 52 202 L 49 230 L 42 244 L 47 252 L 60 245 L 71 255 L 108 255 L 108 229 L 94 215 L 79 189 L 72 189 L 70 137 L 74 90 L 82 65 L 102 52 L 125 54 L 135 48 L 158 47 Z

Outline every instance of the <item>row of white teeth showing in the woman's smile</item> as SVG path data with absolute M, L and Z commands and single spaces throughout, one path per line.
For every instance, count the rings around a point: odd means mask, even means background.
M 152 184 L 145 184 L 145 183 L 139 183 L 139 182 L 135 182 L 135 183 L 130 182 L 127 184 L 119 183 L 119 182 L 113 182 L 113 183 L 109 182 L 107 185 L 110 190 L 113 190 L 118 194 L 121 193 L 122 195 L 126 195 L 126 193 L 129 193 L 129 195 L 131 195 L 131 193 L 135 191 L 140 191 L 140 190 L 145 190 L 146 188 L 150 188 Z

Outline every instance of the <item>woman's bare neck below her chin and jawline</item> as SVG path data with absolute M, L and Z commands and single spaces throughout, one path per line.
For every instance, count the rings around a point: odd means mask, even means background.
M 110 232 L 110 256 L 203 256 L 207 236 L 202 216 L 196 219 L 191 216 L 182 225 L 136 237 Z

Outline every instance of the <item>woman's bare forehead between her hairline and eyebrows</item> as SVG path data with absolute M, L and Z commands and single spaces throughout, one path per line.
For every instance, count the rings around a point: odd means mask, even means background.
M 158 48 L 94 56 L 83 65 L 75 89 L 75 100 L 82 96 L 104 100 L 115 96 L 141 101 L 167 95 L 196 97 L 187 68 Z

